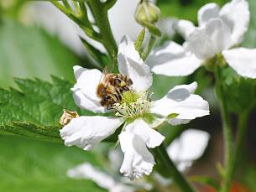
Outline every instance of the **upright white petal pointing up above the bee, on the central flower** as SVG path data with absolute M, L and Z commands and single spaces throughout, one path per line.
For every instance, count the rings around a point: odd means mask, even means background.
M 123 36 L 118 47 L 118 70 L 133 80 L 135 91 L 147 91 L 152 85 L 153 79 L 149 66 L 144 64 L 133 42 L 127 36 Z

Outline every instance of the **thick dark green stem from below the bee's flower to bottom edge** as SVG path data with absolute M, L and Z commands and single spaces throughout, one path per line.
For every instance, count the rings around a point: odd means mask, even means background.
M 175 183 L 180 186 L 181 191 L 195 191 L 191 187 L 191 184 L 187 182 L 185 177 L 180 174 L 180 171 L 176 168 L 175 163 L 173 163 L 170 159 L 163 144 L 161 144 L 159 148 L 154 148 L 153 152 L 155 154 L 155 157 L 157 157 L 157 160 L 159 161 L 159 165 L 165 168 L 165 173 L 168 174 L 170 178 L 175 180 Z

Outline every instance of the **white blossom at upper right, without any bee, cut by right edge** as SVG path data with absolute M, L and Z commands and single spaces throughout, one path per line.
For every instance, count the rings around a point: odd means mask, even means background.
M 180 20 L 176 28 L 185 44 L 168 42 L 155 49 L 146 61 L 160 75 L 190 75 L 207 60 L 222 54 L 227 65 L 239 75 L 256 78 L 256 49 L 235 48 L 242 43 L 248 29 L 246 0 L 232 0 L 221 9 L 208 3 L 198 12 L 199 27 Z

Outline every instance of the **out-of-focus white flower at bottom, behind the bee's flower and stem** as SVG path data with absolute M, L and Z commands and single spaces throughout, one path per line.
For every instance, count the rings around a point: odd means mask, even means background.
M 201 158 L 205 152 L 210 135 L 207 132 L 188 129 L 182 132 L 179 138 L 170 143 L 167 148 L 167 153 L 170 158 L 175 161 L 178 169 L 184 172 L 196 159 Z M 109 163 L 114 170 L 119 169 L 122 164 L 121 150 L 110 150 L 108 153 Z M 103 189 L 108 189 L 111 192 L 128 192 L 137 191 L 138 189 L 152 189 L 152 185 L 144 179 L 136 179 L 129 181 L 127 178 L 119 177 L 118 175 L 110 175 L 102 170 L 97 169 L 90 163 L 81 163 L 75 168 L 69 169 L 67 175 L 74 179 L 91 179 Z M 164 186 L 171 184 L 170 179 L 165 179 L 157 173 L 154 173 L 154 179 Z

